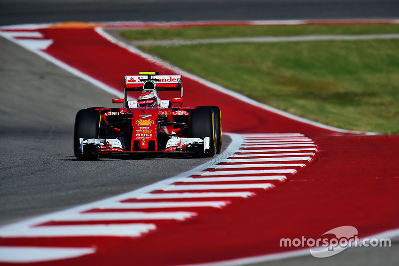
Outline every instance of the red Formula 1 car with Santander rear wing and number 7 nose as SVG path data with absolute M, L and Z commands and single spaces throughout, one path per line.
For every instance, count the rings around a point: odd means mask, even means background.
M 73 151 L 77 159 L 140 153 L 212 157 L 220 152 L 217 106 L 182 107 L 181 75 L 139 74 L 125 76 L 125 98 L 112 100 L 122 108 L 92 107 L 76 114 Z M 132 99 L 138 91 L 140 96 Z M 180 91 L 180 98 L 161 100 L 159 91 Z

